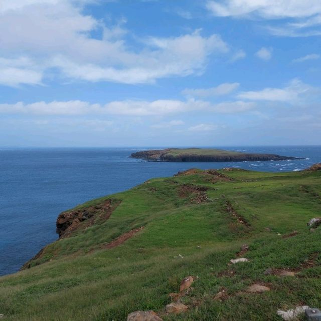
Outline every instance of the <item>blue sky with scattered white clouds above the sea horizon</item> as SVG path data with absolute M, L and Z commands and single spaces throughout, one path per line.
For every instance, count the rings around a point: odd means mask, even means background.
M 320 0 L 1 0 L 0 146 L 319 145 Z

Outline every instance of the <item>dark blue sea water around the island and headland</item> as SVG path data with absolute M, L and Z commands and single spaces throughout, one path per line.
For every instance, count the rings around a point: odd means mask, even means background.
M 189 168 L 297 171 L 321 162 L 321 146 L 220 148 L 305 159 L 167 163 L 128 158 L 142 148 L 0 149 L 0 275 L 16 272 L 42 247 L 57 239 L 55 222 L 60 212 L 152 177 L 172 176 Z

